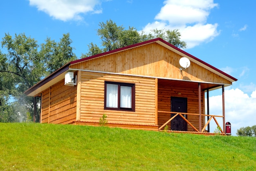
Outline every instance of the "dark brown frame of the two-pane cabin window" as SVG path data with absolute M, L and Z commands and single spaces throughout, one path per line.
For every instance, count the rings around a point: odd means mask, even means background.
M 118 85 L 118 107 L 113 108 L 113 107 L 107 107 L 107 84 L 116 84 Z M 132 107 L 131 108 L 125 108 L 125 107 L 120 107 L 120 90 L 121 86 L 127 86 L 127 87 L 132 87 Z M 104 83 L 104 109 L 105 110 L 114 110 L 114 111 L 135 111 L 135 84 L 133 83 L 126 83 L 126 82 L 112 82 L 112 81 L 105 81 Z

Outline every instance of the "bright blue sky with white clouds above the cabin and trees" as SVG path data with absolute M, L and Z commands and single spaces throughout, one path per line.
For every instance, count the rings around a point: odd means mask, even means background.
M 254 0 L 2 0 L 0 37 L 25 33 L 40 44 L 70 33 L 80 57 L 90 42 L 99 44 L 99 22 L 106 20 L 146 32 L 180 29 L 184 51 L 238 79 L 225 88 L 226 121 L 235 135 L 256 124 L 255 8 Z M 210 96 L 210 114 L 221 114 L 221 92 Z

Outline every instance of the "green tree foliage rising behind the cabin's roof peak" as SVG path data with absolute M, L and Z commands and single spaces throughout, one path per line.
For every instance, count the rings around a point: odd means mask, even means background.
M 99 27 L 97 35 L 101 39 L 101 47 L 103 48 L 98 47 L 97 44 L 90 43 L 88 45 L 88 53 L 82 54 L 81 58 L 126 47 L 154 38 L 162 38 L 176 47 L 186 48 L 186 42 L 180 40 L 181 34 L 177 29 L 172 31 L 166 29 L 153 29 L 149 34 L 145 34 L 143 31 L 139 33 L 134 27 L 129 27 L 129 29 L 126 30 L 123 26 L 117 26 L 117 24 L 112 20 L 107 20 L 106 23 L 100 22 Z

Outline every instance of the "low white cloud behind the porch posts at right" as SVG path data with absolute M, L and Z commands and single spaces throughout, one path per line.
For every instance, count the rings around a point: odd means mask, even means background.
M 231 123 L 232 135 L 241 127 L 256 125 L 256 90 L 250 96 L 240 89 L 225 90 L 225 121 Z M 211 115 L 222 115 L 222 95 L 209 98 L 209 109 Z M 218 122 L 222 127 L 222 120 Z M 211 123 L 210 131 L 213 132 L 216 127 Z

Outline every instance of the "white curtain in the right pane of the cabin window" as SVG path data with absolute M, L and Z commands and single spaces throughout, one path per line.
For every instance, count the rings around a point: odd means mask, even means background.
M 120 87 L 120 107 L 132 108 L 132 87 Z

